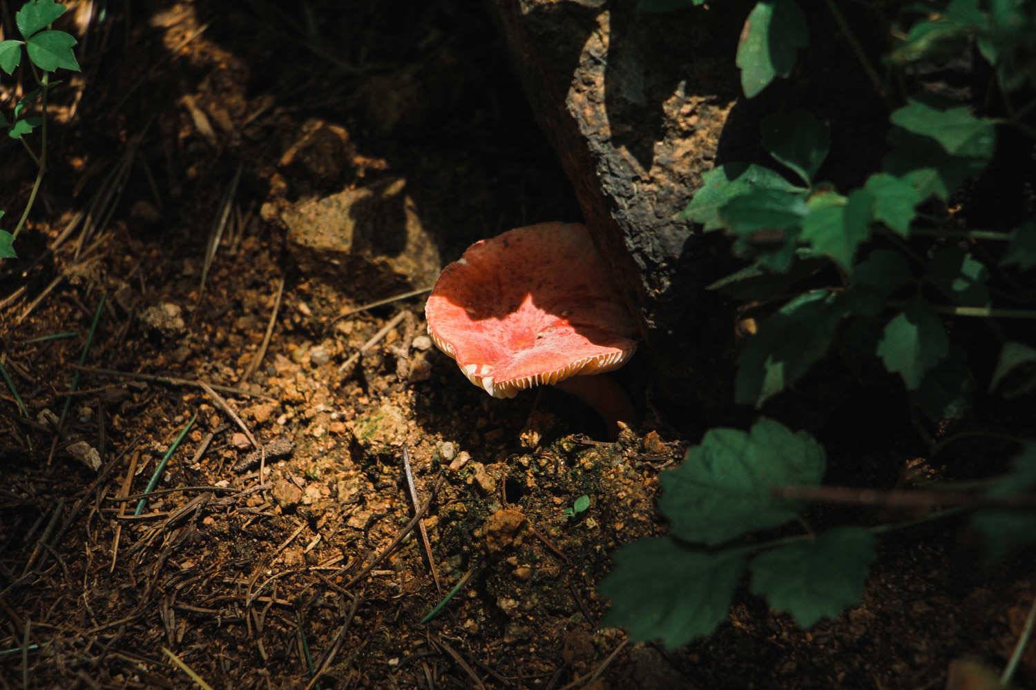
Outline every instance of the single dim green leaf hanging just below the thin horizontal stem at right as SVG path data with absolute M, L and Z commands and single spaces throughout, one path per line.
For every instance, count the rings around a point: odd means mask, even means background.
M 877 356 L 886 369 L 902 377 L 908 390 L 917 390 L 925 372 L 941 362 L 949 349 L 939 314 L 917 297 L 885 327 Z

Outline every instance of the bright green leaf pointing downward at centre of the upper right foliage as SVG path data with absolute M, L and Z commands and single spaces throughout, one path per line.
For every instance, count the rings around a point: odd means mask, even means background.
M 842 269 L 850 270 L 857 247 L 870 237 L 873 207 L 871 193 L 857 189 L 848 196 L 844 206 L 832 204 L 810 208 L 802 222 L 802 239 Z

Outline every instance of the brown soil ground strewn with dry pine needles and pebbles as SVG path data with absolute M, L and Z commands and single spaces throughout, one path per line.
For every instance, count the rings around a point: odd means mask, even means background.
M 481 7 L 332 4 L 69 2 L 84 71 L 55 91 L 51 169 L 0 274 L 28 412 L 0 393 L 3 687 L 938 688 L 951 660 L 1003 666 L 1031 562 L 981 571 L 963 522 L 883 540 L 862 605 L 810 631 L 747 591 L 683 650 L 599 628 L 609 553 L 664 531 L 659 472 L 747 417 L 649 404 L 602 441 L 560 393 L 468 384 L 420 295 L 357 311 L 426 287 L 397 264 L 300 262 L 286 211 L 398 178 L 442 261 L 578 219 Z M 13 142 L 3 160 L 9 218 L 34 169 Z M 840 381 L 781 401 L 835 483 L 1004 455 L 936 462 L 885 391 Z M 1015 678 L 1036 682 L 1036 652 Z

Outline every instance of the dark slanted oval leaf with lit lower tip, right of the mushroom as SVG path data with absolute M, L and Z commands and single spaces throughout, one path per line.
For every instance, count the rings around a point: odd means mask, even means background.
M 738 360 L 737 401 L 760 408 L 792 386 L 827 354 L 843 314 L 837 295 L 815 290 L 764 321 Z

